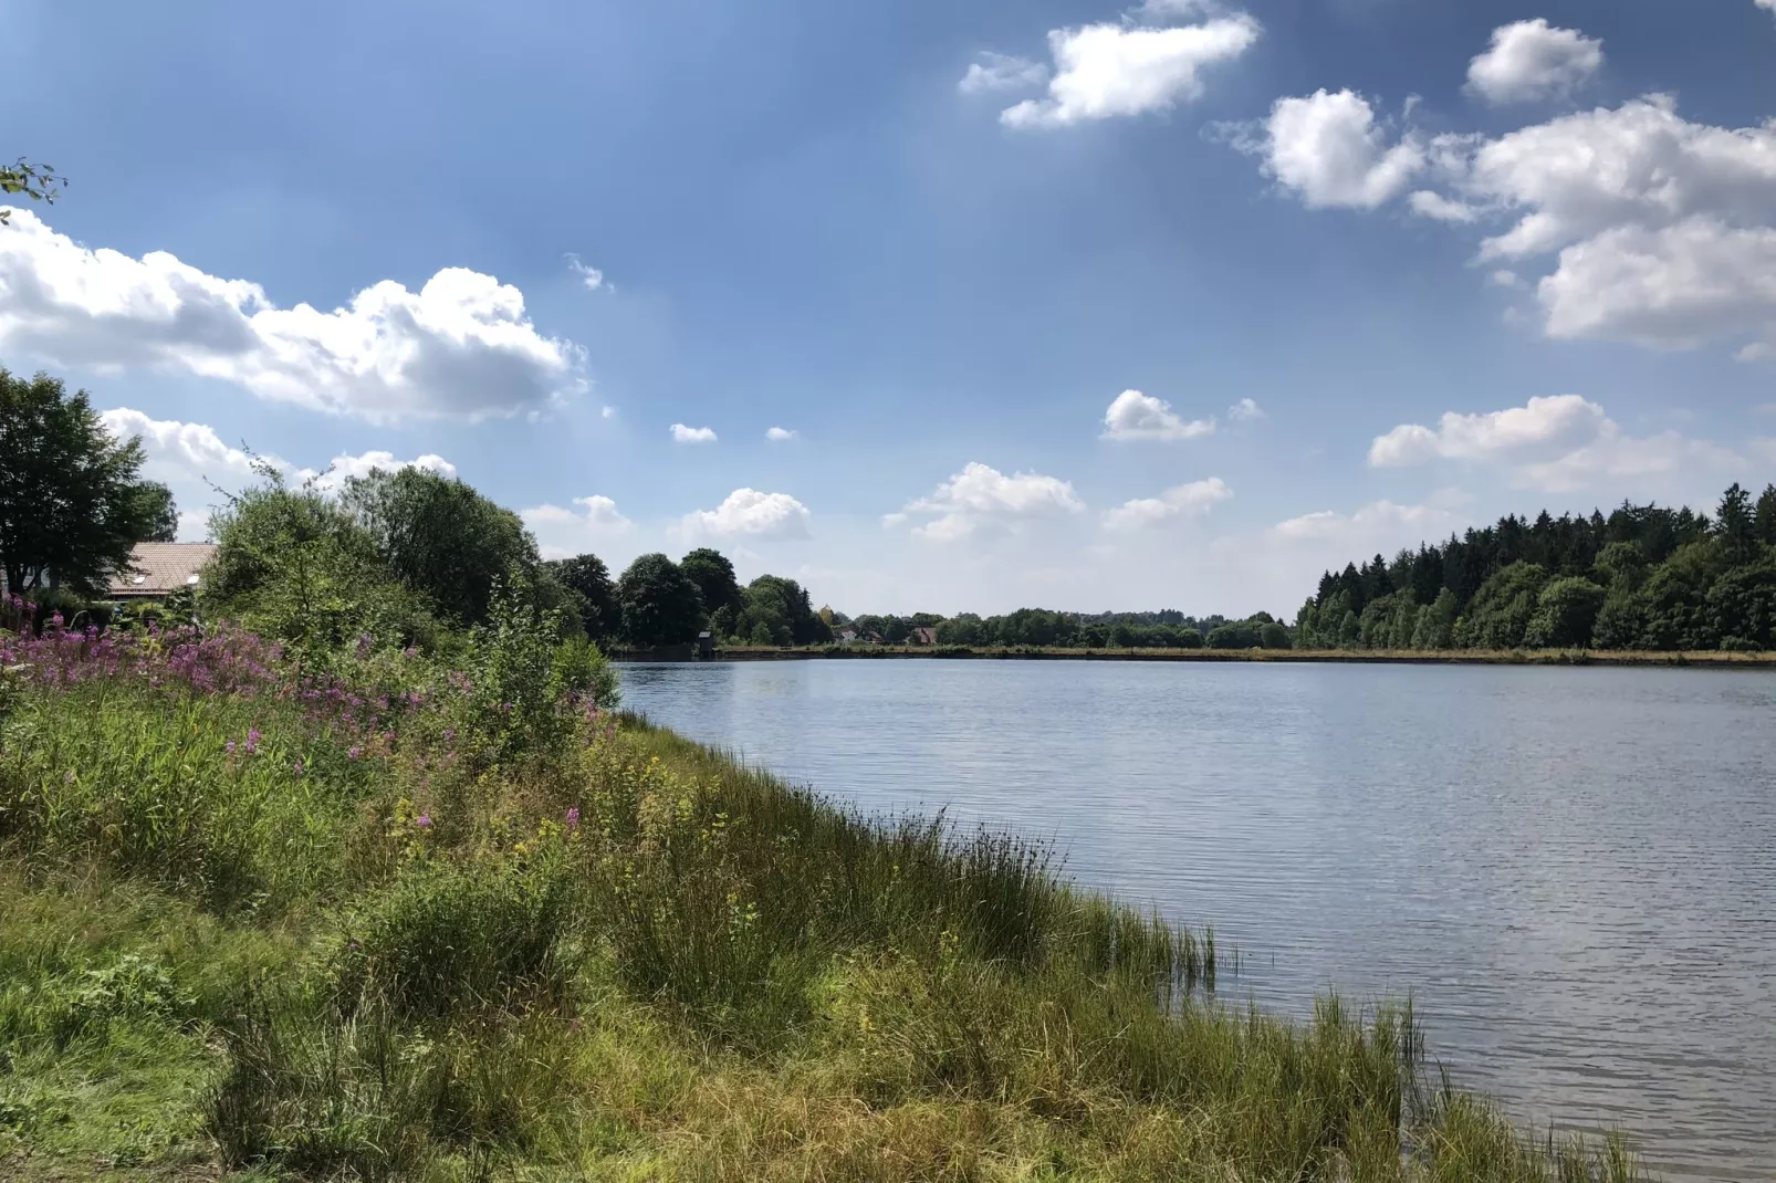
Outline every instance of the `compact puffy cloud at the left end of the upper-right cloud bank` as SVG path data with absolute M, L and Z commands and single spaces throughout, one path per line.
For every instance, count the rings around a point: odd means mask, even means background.
M 1405 192 L 1426 163 L 1417 139 L 1387 144 L 1375 108 L 1355 91 L 1280 98 L 1263 133 L 1234 146 L 1263 156 L 1265 172 L 1309 210 L 1373 210 Z

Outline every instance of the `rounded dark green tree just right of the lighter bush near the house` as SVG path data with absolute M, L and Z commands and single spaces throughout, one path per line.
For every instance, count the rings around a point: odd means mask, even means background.
M 339 503 L 369 531 L 389 572 L 460 623 L 487 618 L 496 583 L 536 577 L 536 542 L 519 515 L 458 480 L 373 469 L 346 480 Z

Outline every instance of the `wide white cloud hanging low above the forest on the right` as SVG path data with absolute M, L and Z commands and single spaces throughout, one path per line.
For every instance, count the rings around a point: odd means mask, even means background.
M 1524 407 L 1487 414 L 1447 412 L 1435 428 L 1396 426 L 1369 446 L 1373 467 L 1433 460 L 1499 465 L 1510 483 L 1542 492 L 1575 492 L 1614 478 L 1659 478 L 1684 471 L 1726 471 L 1742 464 L 1726 448 L 1677 432 L 1634 437 L 1598 403 L 1579 394 L 1531 398 Z

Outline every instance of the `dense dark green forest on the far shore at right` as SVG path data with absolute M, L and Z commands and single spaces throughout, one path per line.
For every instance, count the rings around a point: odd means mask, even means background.
M 1776 648 L 1776 487 L 1714 513 L 1623 503 L 1508 515 L 1325 572 L 1304 648 Z

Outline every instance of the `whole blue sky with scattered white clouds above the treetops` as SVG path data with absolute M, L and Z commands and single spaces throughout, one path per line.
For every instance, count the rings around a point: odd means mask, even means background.
M 1776 476 L 1771 2 L 0 4 L 73 178 L 0 364 L 192 536 L 245 442 L 852 613 L 1291 613 Z

